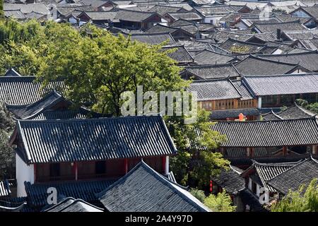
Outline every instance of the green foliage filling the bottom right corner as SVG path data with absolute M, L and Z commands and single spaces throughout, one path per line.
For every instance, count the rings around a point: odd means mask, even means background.
M 305 191 L 305 193 L 304 193 Z M 298 191 L 289 193 L 271 207 L 272 212 L 318 212 L 317 178 L 307 186 L 302 185 Z

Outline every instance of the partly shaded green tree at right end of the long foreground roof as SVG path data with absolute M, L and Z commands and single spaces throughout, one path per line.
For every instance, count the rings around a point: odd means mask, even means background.
M 170 158 L 170 167 L 177 181 L 204 189 L 211 175 L 220 173 L 221 168 L 229 165 L 221 153 L 213 152 L 225 141 L 225 136 L 211 130 L 213 123 L 209 121 L 209 112 L 204 109 L 199 110 L 194 124 L 182 124 L 177 119 L 167 119 L 166 123 L 179 151 Z

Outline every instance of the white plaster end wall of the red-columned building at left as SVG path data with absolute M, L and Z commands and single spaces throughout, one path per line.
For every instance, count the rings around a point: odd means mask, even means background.
M 26 196 L 24 182 L 34 183 L 34 165 L 26 165 L 25 162 L 16 154 L 16 183 L 17 196 Z

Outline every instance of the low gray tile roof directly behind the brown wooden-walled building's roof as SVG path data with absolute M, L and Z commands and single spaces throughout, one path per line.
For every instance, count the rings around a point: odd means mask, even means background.
M 213 64 L 186 66 L 183 73 L 195 76 L 195 79 L 216 79 L 240 77 L 232 64 Z

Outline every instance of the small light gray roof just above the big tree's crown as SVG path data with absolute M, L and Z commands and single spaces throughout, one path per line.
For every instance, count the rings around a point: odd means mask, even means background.
M 127 34 L 124 34 L 127 35 Z M 136 40 L 139 42 L 147 43 L 147 44 L 161 44 L 165 41 L 168 41 L 167 44 L 175 44 L 175 40 L 170 35 L 169 32 L 163 33 L 141 33 L 141 34 L 131 34 L 131 40 Z

